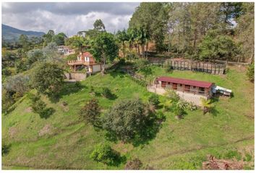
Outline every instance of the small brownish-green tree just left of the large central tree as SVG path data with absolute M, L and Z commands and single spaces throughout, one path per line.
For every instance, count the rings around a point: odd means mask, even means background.
M 80 110 L 80 116 L 88 123 L 94 126 L 101 125 L 100 120 L 101 108 L 98 105 L 98 100 L 93 98 L 90 99 L 84 107 Z

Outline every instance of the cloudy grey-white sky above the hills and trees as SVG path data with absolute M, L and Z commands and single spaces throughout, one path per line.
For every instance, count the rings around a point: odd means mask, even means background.
M 101 19 L 108 32 L 123 30 L 129 25 L 140 2 L 3 2 L 2 24 L 20 30 L 33 30 L 76 35 L 93 29 Z

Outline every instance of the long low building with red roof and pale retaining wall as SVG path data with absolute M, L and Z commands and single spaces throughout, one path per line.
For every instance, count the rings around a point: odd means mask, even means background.
M 209 99 L 213 95 L 214 83 L 208 81 L 195 81 L 191 79 L 180 79 L 168 76 L 160 76 L 155 79 L 152 86 L 148 86 L 150 92 L 164 94 L 166 89 L 174 90 L 179 97 L 195 105 L 201 105 L 201 99 Z

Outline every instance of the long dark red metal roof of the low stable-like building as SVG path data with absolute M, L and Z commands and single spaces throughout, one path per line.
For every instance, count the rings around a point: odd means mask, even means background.
M 210 88 L 210 86 L 213 84 L 212 82 L 208 82 L 208 81 L 195 81 L 195 80 L 190 80 L 190 79 L 180 79 L 180 78 L 173 78 L 173 77 L 167 77 L 167 76 L 158 77 L 157 80 L 158 81 L 168 81 L 168 82 L 176 83 L 176 84 L 198 86 L 198 87 L 203 87 L 203 88 Z

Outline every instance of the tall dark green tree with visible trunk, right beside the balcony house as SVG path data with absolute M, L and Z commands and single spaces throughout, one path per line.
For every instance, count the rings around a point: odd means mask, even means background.
M 101 74 L 105 73 L 105 65 L 107 62 L 114 61 L 118 56 L 118 45 L 114 40 L 114 35 L 108 32 L 101 32 L 91 44 L 90 53 L 93 57 L 101 62 Z

